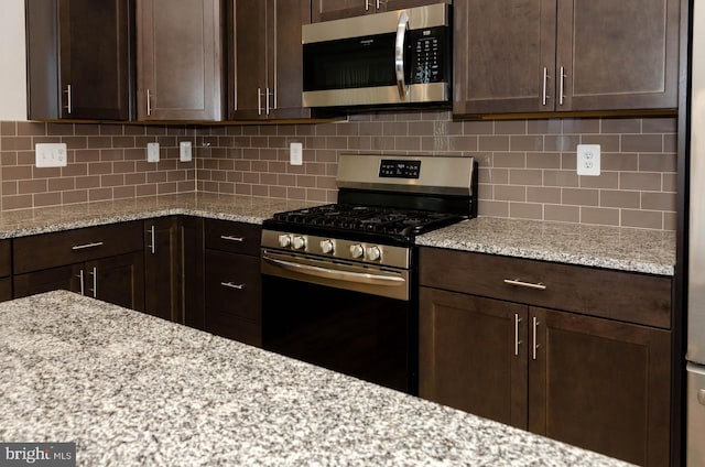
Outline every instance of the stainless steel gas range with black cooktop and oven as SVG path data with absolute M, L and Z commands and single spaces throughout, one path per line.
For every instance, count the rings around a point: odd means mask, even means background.
M 476 163 L 343 154 L 337 184 L 263 222 L 263 347 L 416 393 L 414 239 L 476 216 Z

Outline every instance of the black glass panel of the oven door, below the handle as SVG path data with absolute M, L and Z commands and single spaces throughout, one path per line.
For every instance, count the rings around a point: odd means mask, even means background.
M 416 392 L 410 302 L 263 276 L 263 347 L 404 392 Z

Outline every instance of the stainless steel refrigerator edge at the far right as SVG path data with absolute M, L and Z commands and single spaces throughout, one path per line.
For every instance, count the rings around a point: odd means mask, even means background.
M 686 461 L 705 466 L 705 9 L 693 2 Z M 696 59 L 696 57 L 699 57 Z

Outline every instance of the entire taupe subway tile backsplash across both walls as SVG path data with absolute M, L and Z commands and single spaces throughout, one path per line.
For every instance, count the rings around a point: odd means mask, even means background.
M 676 119 L 453 121 L 444 111 L 279 126 L 1 122 L 3 210 L 163 193 L 236 193 L 333 202 L 341 152 L 453 154 L 480 164 L 485 216 L 675 229 Z M 195 163 L 178 162 L 178 141 Z M 33 144 L 66 142 L 64 169 L 33 167 Z M 148 142 L 162 161 L 145 162 Z M 302 142 L 292 166 L 289 143 Z M 599 176 L 577 176 L 578 143 L 601 144 Z

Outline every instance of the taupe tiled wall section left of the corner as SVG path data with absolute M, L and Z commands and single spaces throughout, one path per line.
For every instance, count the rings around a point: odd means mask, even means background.
M 2 210 L 195 189 L 195 162 L 178 162 L 183 127 L 0 122 Z M 193 133 L 193 132 L 192 132 Z M 34 144 L 64 142 L 66 167 L 34 166 Z M 161 160 L 148 163 L 147 143 Z

